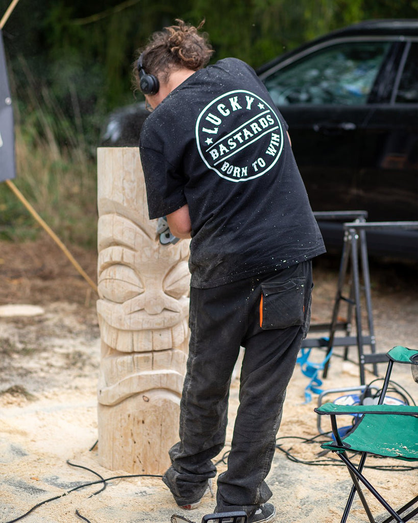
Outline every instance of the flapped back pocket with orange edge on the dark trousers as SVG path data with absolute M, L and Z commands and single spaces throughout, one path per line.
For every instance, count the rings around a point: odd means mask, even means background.
M 305 319 L 305 278 L 261 284 L 260 327 L 286 328 Z

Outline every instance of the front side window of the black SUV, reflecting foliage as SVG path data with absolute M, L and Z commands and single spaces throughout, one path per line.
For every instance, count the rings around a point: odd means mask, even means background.
M 274 103 L 366 104 L 389 42 L 346 42 L 321 49 L 264 79 Z

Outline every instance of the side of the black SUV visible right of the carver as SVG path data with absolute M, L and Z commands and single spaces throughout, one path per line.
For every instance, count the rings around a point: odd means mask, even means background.
M 361 22 L 257 71 L 289 126 L 314 211 L 418 214 L 418 21 Z M 328 246 L 336 225 L 320 223 Z M 367 234 L 369 252 L 416 258 L 418 233 Z

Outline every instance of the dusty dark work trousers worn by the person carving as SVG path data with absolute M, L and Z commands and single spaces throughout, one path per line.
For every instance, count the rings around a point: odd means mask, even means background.
M 228 396 L 240 346 L 239 408 L 218 477 L 215 511 L 251 510 L 272 495 L 265 483 L 286 387 L 310 320 L 311 261 L 212 289 L 191 289 L 189 359 L 180 404 L 180 441 L 163 477 L 176 502 L 198 501 L 216 474 Z M 260 326 L 261 323 L 261 326 Z

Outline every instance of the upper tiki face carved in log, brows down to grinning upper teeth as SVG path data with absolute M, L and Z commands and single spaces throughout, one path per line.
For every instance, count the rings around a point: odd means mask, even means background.
M 122 352 L 161 350 L 183 342 L 188 315 L 188 242 L 161 245 L 156 232 L 117 214 L 100 218 L 101 335 Z M 108 234 L 106 234 L 108 233 Z

